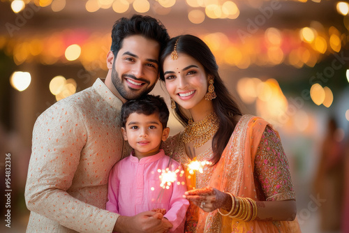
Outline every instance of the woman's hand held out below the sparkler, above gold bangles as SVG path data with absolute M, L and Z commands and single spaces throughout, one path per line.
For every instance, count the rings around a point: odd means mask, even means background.
M 223 193 L 216 188 L 201 188 L 189 190 L 184 193 L 184 198 L 199 206 L 205 212 L 223 208 L 230 211 L 232 208 L 232 198 L 227 193 Z

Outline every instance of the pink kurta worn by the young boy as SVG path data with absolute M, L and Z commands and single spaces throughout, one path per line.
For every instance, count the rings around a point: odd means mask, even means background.
M 166 170 L 167 167 L 171 171 L 179 171 L 177 181 L 170 188 L 163 189 L 158 169 Z M 122 216 L 135 216 L 152 209 L 165 209 L 164 217 L 173 225 L 170 232 L 183 233 L 189 202 L 182 197 L 186 192 L 182 170 L 181 165 L 165 156 L 162 149 L 156 155 L 140 160 L 131 153 L 131 156 L 119 161 L 110 172 L 107 210 Z

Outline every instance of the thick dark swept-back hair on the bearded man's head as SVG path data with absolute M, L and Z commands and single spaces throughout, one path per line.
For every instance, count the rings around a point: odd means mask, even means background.
M 110 50 L 112 50 L 114 57 L 117 57 L 124 38 L 134 35 L 156 40 L 160 44 L 160 53 L 170 40 L 165 26 L 153 17 L 147 15 L 133 15 L 131 18 L 121 17 L 112 27 L 112 47 Z

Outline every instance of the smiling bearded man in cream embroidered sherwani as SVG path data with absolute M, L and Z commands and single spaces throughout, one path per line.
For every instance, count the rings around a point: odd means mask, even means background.
M 52 105 L 36 120 L 25 200 L 27 232 L 163 232 L 161 213 L 119 216 L 105 210 L 110 169 L 123 153 L 121 105 L 158 80 L 169 39 L 152 17 L 121 18 L 112 29 L 105 81 Z

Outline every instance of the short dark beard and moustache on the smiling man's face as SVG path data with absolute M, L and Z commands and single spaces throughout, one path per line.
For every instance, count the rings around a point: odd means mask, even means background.
M 142 82 L 145 82 L 145 84 L 150 84 L 148 80 L 144 80 L 142 78 L 138 79 L 133 75 L 122 75 L 123 79 L 125 80 L 126 77 L 131 77 L 133 80 L 139 80 Z M 126 82 L 126 81 L 125 81 Z M 138 99 L 144 95 L 147 95 L 152 89 L 154 89 L 156 82 L 151 87 L 148 87 L 147 89 L 143 89 L 142 91 L 132 89 L 128 87 L 130 90 L 127 91 L 126 88 L 124 87 L 124 84 L 121 81 L 121 77 L 119 77 L 119 74 L 117 73 L 117 70 L 115 70 L 115 67 L 112 68 L 112 84 L 114 84 L 114 87 L 117 89 L 119 92 L 120 96 L 124 98 L 125 100 L 134 100 Z

